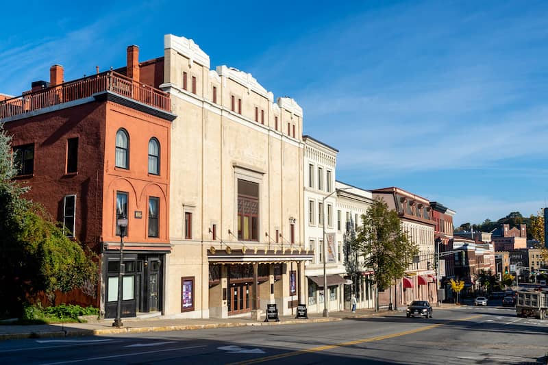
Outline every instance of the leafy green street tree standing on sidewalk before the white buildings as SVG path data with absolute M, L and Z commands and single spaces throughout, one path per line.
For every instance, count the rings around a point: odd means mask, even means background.
M 395 210 L 389 210 L 382 199 L 375 199 L 362 216 L 356 245 L 364 255 L 365 266 L 373 268 L 375 273 L 375 309 L 378 310 L 379 288 L 386 288 L 394 279 L 403 277 L 419 249 L 401 229 Z

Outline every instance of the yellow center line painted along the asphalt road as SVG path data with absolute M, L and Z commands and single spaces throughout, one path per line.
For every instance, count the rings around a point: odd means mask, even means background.
M 388 338 L 406 336 L 406 335 L 410 335 L 411 333 L 427 331 L 428 329 L 433 329 L 433 328 L 440 327 L 440 326 L 443 326 L 443 325 L 448 325 L 449 323 L 460 322 L 460 321 L 463 321 L 463 320 L 471 320 L 471 319 L 478 318 L 478 317 L 481 317 L 481 316 L 483 316 L 483 314 L 478 314 L 477 316 L 471 316 L 471 317 L 466 317 L 466 318 L 462 318 L 462 319 L 448 320 L 447 322 L 444 322 L 444 323 L 436 323 L 436 325 L 429 325 L 427 327 L 410 329 L 408 331 L 392 333 L 392 334 L 389 334 L 389 335 L 363 338 L 362 340 L 353 340 L 353 341 L 349 341 L 349 342 L 341 342 L 339 344 L 326 344 L 324 346 L 313 347 L 312 349 L 291 351 L 291 352 L 288 352 L 288 353 L 279 353 L 278 355 L 259 357 L 258 359 L 245 360 L 245 361 L 242 361 L 242 362 L 233 362 L 232 364 L 228 364 L 228 365 L 257 364 L 258 362 L 266 362 L 266 361 L 271 361 L 271 360 L 277 360 L 277 359 L 282 359 L 284 357 L 292 357 L 292 356 L 302 355 L 303 353 L 314 353 L 314 352 L 319 352 L 319 351 L 335 349 L 337 347 L 346 347 L 346 346 L 352 346 L 354 344 L 362 344 L 362 343 L 365 343 L 365 342 L 386 340 Z

